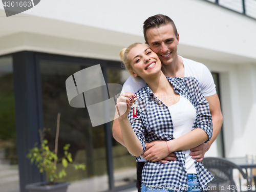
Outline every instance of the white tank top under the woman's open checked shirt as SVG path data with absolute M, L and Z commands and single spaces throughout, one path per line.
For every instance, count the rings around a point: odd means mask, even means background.
M 174 124 L 174 138 L 177 139 L 192 130 L 196 119 L 196 109 L 189 100 L 180 95 L 180 100 L 168 106 Z M 196 174 L 195 160 L 189 155 L 190 150 L 182 151 L 186 156 L 185 167 L 188 174 Z

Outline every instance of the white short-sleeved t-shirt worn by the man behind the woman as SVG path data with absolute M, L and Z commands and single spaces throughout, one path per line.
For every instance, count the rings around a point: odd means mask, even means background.
M 209 69 L 203 65 L 203 63 L 191 59 L 186 59 L 181 56 L 179 57 L 183 61 L 184 77 L 195 77 L 200 84 L 204 97 L 208 97 L 217 93 L 214 78 L 212 77 Z M 126 92 L 136 93 L 145 86 L 146 82 L 143 79 L 130 76 L 123 83 L 121 94 Z M 141 157 L 140 161 L 145 161 L 145 159 Z

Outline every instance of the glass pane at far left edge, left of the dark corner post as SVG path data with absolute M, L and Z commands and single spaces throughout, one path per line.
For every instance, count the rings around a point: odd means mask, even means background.
M 11 56 L 0 58 L 0 189 L 19 191 Z

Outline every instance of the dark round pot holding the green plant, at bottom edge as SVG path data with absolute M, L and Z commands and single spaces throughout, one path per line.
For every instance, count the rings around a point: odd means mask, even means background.
M 26 185 L 29 192 L 66 192 L 69 182 L 59 182 L 55 185 L 49 185 L 48 182 L 31 183 Z

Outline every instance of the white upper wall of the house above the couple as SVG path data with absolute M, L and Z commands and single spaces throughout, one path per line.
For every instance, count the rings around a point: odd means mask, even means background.
M 2 4 L 0 9 L 3 10 Z M 133 39 L 134 35 L 143 35 L 142 24 L 147 17 L 162 13 L 173 18 L 180 33 L 181 44 L 256 59 L 252 49 L 256 38 L 251 38 L 256 31 L 255 19 L 203 0 L 166 0 L 160 3 L 153 0 L 44 0 L 25 13 L 20 15 L 29 15 L 32 18 L 14 16 L 7 20 L 2 11 L 0 22 L 5 27 L 0 36 L 27 31 L 80 40 L 90 38 L 90 41 L 96 42 L 100 39 L 104 42 L 101 36 L 103 35 L 103 39 L 108 39 L 108 36 L 97 31 L 104 29 L 130 34 L 130 38 L 112 40 L 116 45 L 124 47 L 137 40 Z M 33 23 L 33 20 L 36 22 Z M 63 23 L 70 28 L 62 28 Z M 81 26 L 94 27 L 94 35 L 80 33 Z M 106 42 L 111 44 L 108 40 Z

